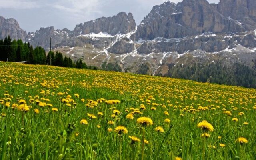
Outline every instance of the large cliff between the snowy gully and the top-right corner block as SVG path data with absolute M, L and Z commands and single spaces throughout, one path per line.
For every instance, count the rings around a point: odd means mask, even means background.
M 206 0 L 183 0 L 178 4 L 168 1 L 154 6 L 142 20 L 136 39 L 182 38 L 204 32 L 232 33 L 253 29 L 252 25 L 246 27 L 235 19 L 223 16 L 218 12 L 218 5 L 209 4 Z

